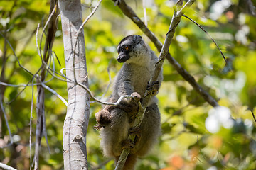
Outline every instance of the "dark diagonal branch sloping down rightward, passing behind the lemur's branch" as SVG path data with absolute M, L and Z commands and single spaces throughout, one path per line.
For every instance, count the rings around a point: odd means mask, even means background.
M 145 26 L 145 24 L 142 22 L 142 20 L 137 16 L 136 13 L 134 13 L 134 11 L 132 10 L 131 7 L 127 6 L 127 4 L 123 1 L 123 0 L 112 0 L 115 3 L 118 4 L 118 7 L 122 10 L 122 12 L 124 13 L 125 16 L 127 16 L 128 18 L 130 18 L 143 32 L 144 34 L 154 43 L 154 45 L 156 46 L 156 49 L 160 52 L 161 48 L 162 48 L 162 44 L 159 41 L 158 38 L 156 38 L 156 36 L 154 35 L 154 33 L 151 32 L 151 30 L 149 30 L 149 28 L 147 28 Z M 174 69 L 176 69 L 176 71 L 178 72 L 178 74 L 181 74 L 181 76 L 183 77 L 183 79 L 185 79 L 186 81 L 188 81 L 189 84 L 191 84 L 191 86 L 193 86 L 193 89 L 196 90 L 196 92 L 198 92 L 199 95 L 201 95 L 203 97 L 203 99 L 205 101 L 207 101 L 211 106 L 215 107 L 215 106 L 219 106 L 218 102 L 212 97 L 210 96 L 210 94 L 208 94 L 207 91 L 205 91 L 193 78 L 193 76 L 191 76 L 191 74 L 189 74 L 186 69 L 183 69 L 183 67 L 181 67 L 181 64 L 179 64 L 174 57 L 172 57 L 170 55 L 170 53 L 168 53 L 166 55 L 166 59 L 170 62 L 170 64 L 174 67 Z

